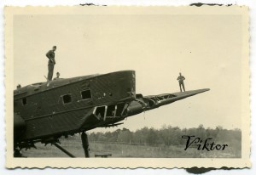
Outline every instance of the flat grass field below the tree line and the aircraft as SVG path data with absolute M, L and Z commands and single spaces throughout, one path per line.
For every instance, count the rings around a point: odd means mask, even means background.
M 76 157 L 84 157 L 84 150 L 79 136 L 61 138 L 61 146 Z M 27 157 L 68 157 L 54 145 L 36 144 L 38 149 L 22 150 Z M 227 150 L 184 150 L 184 145 L 132 145 L 119 143 L 96 143 L 90 141 L 90 157 L 96 154 L 112 154 L 110 157 L 141 157 L 141 158 L 239 158 L 241 150 L 229 147 Z M 109 158 L 110 158 L 109 157 Z

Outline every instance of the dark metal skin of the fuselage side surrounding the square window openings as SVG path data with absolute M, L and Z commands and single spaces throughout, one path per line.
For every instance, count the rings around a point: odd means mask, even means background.
M 32 88 L 24 88 L 26 93 L 15 95 L 15 111 L 26 121 L 26 134 L 22 139 L 77 130 L 93 107 L 133 99 L 134 74 L 134 71 L 119 71 L 86 79 L 74 78 L 76 82 L 69 79 L 70 83 L 63 82 L 67 81 L 65 79 L 57 80 L 50 82 L 49 88 L 42 85 L 36 93 Z M 81 91 L 86 89 L 90 89 L 92 98 L 82 100 Z M 62 96 L 65 94 L 71 94 L 72 103 L 63 104 Z M 24 97 L 25 105 L 22 104 Z

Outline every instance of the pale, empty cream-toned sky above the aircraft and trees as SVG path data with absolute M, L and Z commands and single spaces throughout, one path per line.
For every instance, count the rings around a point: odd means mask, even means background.
M 154 95 L 178 92 L 182 72 L 187 90 L 211 89 L 113 129 L 241 128 L 241 32 L 239 15 L 15 15 L 14 88 L 45 82 L 45 54 L 56 45 L 62 78 L 134 70 L 137 93 Z

